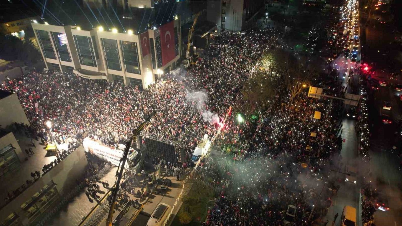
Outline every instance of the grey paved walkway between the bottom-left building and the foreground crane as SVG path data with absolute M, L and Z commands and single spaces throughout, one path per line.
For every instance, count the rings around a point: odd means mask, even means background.
M 101 180 L 109 181 L 109 188 L 113 187 L 116 179 L 116 170 L 117 167 L 113 167 L 109 173 L 107 173 Z M 107 194 L 108 189 L 104 188 L 102 184 L 99 184 L 100 192 L 97 194 L 100 196 L 100 199 L 103 198 L 104 195 Z M 54 226 L 77 226 L 81 223 L 82 220 L 91 212 L 91 210 L 98 204 L 98 202 L 94 199 L 92 201 L 88 200 L 87 195 L 85 194 L 87 188 L 83 189 L 76 198 L 68 205 L 62 212 L 57 214 L 48 225 Z

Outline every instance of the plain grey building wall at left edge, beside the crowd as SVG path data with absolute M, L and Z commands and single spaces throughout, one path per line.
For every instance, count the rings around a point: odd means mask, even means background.
M 15 93 L 0 99 L 0 125 L 5 128 L 14 122 L 29 125 L 27 116 Z

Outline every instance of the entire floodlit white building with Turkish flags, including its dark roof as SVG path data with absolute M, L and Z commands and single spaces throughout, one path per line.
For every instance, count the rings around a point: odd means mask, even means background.
M 66 22 L 31 23 L 48 69 L 146 88 L 178 63 L 174 8 L 152 0 L 84 0 L 78 7 Z

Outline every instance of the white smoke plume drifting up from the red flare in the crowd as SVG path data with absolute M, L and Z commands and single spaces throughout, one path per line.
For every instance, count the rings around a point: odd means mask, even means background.
M 204 91 L 187 92 L 186 99 L 189 102 L 194 102 L 198 111 L 202 112 L 201 116 L 205 122 L 218 123 L 219 116 L 207 110 L 208 94 Z

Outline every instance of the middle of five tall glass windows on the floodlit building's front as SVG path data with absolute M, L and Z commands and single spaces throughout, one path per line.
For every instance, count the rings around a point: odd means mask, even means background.
M 94 51 L 93 41 L 93 39 L 91 40 L 87 36 L 74 35 L 74 43 L 76 44 L 78 59 L 80 59 L 81 65 L 96 67 L 98 56 L 95 54 L 97 51 Z

